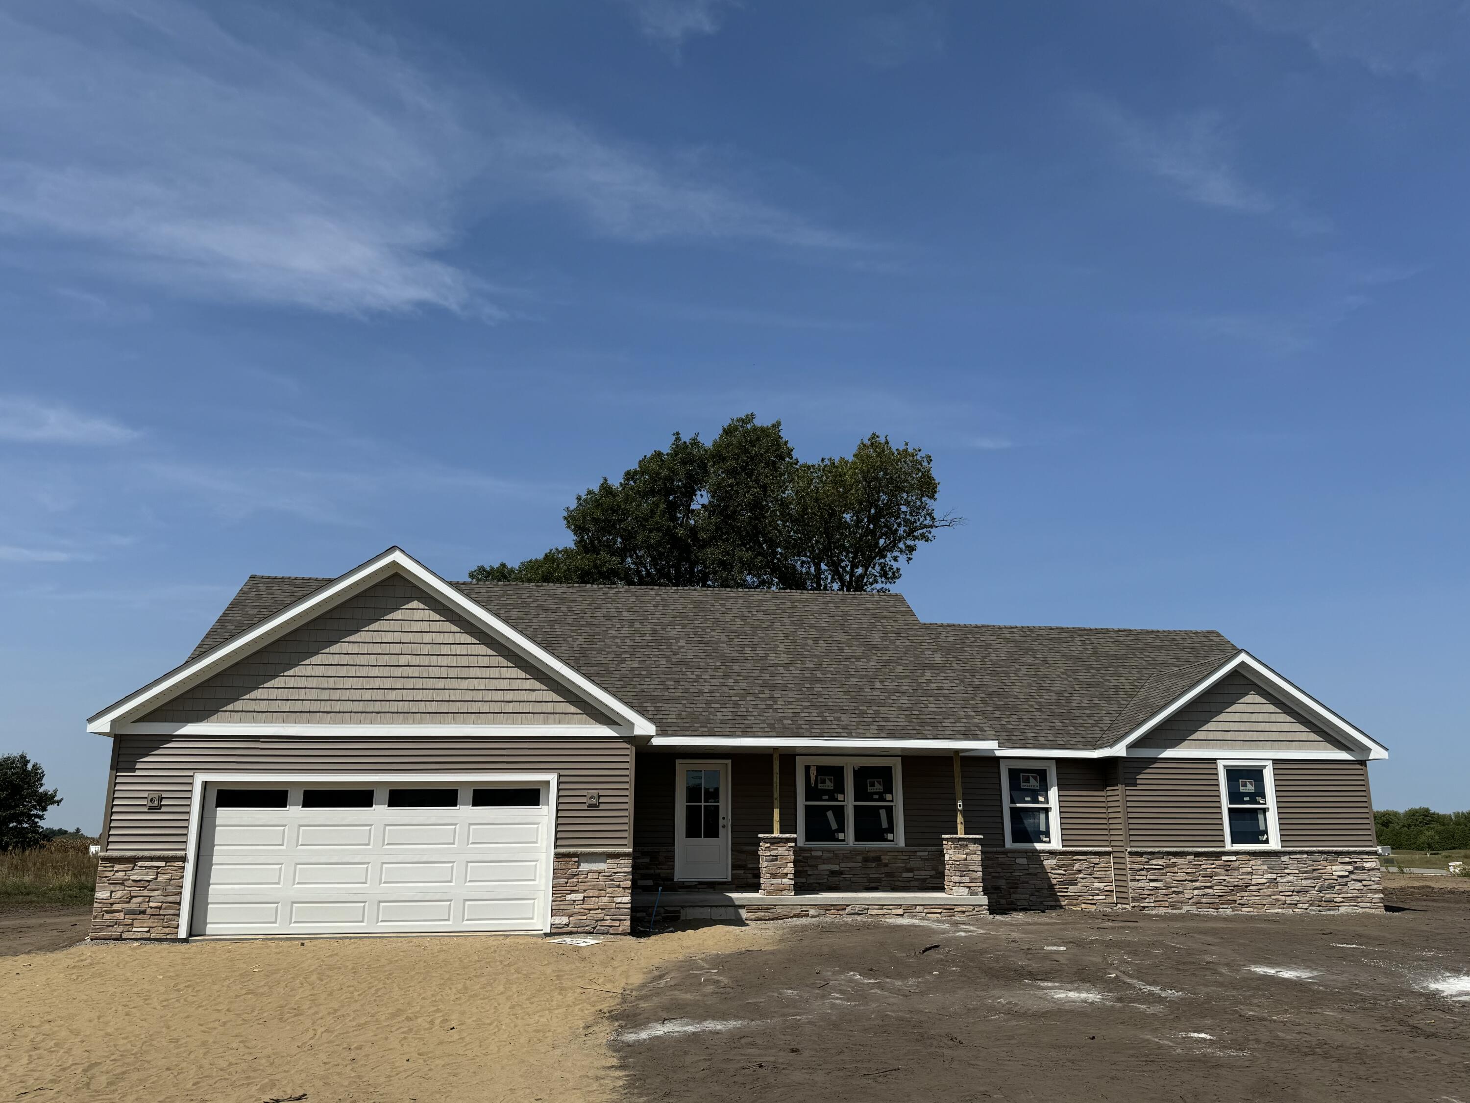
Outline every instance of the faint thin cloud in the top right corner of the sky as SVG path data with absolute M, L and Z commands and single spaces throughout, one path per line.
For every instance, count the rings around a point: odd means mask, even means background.
M 1327 62 L 1370 72 L 1439 76 L 1470 49 L 1464 0 L 1225 0 L 1255 26 L 1305 41 Z

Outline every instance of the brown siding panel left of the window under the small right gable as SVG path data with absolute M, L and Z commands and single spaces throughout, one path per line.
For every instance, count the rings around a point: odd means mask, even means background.
M 1127 759 L 1123 778 L 1129 846 L 1225 846 L 1220 774 L 1213 759 Z

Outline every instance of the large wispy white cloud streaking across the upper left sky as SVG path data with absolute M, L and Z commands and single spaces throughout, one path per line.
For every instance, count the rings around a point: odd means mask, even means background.
M 431 76 L 368 31 L 256 13 L 247 38 L 173 0 L 29 10 L 0 13 L 0 234 L 172 293 L 498 318 L 450 250 L 531 204 L 631 243 L 853 244 L 709 156 Z

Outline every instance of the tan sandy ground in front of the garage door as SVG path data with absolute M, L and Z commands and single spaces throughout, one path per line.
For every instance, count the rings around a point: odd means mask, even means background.
M 0 1100 L 616 1099 L 620 994 L 776 932 L 87 943 L 0 957 Z

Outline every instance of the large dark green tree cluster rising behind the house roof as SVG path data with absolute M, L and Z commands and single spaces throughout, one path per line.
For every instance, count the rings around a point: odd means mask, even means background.
M 713 444 L 675 434 L 619 482 L 566 510 L 570 547 L 472 582 L 886 590 L 919 544 L 960 524 L 935 512 L 933 459 L 878 434 L 851 456 L 804 463 L 754 413 Z

